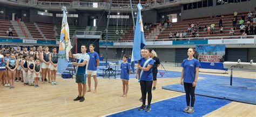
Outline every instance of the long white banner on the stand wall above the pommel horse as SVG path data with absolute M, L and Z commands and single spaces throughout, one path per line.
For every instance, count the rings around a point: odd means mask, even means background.
M 248 44 L 254 43 L 254 39 L 212 39 L 208 44 Z

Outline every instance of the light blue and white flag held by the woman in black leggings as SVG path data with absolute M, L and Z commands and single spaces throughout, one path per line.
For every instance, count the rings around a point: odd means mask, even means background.
M 137 5 L 137 21 L 136 21 L 136 28 L 135 28 L 135 32 L 134 32 L 131 61 L 140 60 L 140 49 L 144 48 L 144 46 L 145 46 L 145 36 L 144 36 L 144 31 L 143 31 L 142 14 L 140 13 L 140 10 L 142 10 L 142 9 L 143 9 L 142 5 L 139 3 Z

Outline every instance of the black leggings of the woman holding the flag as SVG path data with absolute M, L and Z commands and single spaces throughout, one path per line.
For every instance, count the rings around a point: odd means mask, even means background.
M 146 96 L 147 96 L 147 105 L 150 106 L 152 100 L 152 84 L 153 81 L 140 81 L 140 90 L 142 91 L 142 102 L 143 105 L 146 105 Z

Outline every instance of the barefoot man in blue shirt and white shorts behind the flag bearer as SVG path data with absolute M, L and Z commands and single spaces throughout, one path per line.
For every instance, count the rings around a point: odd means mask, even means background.
M 88 69 L 87 69 L 87 75 L 88 75 L 88 91 L 91 91 L 91 75 L 93 76 L 93 79 L 95 81 L 95 89 L 93 93 L 97 93 L 97 85 L 98 85 L 98 80 L 97 80 L 97 68 L 99 66 L 99 54 L 94 51 L 95 45 L 90 44 L 89 45 L 90 52 L 88 53 L 90 55 L 90 60 L 88 64 Z

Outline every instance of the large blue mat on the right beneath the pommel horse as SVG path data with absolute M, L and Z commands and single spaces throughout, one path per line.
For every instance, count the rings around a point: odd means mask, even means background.
M 227 76 L 199 74 L 199 77 L 204 77 L 204 79 L 198 80 L 197 95 L 256 105 L 256 79 L 233 77 L 233 84 L 230 86 L 230 77 Z M 180 84 L 167 85 L 162 88 L 185 92 Z

